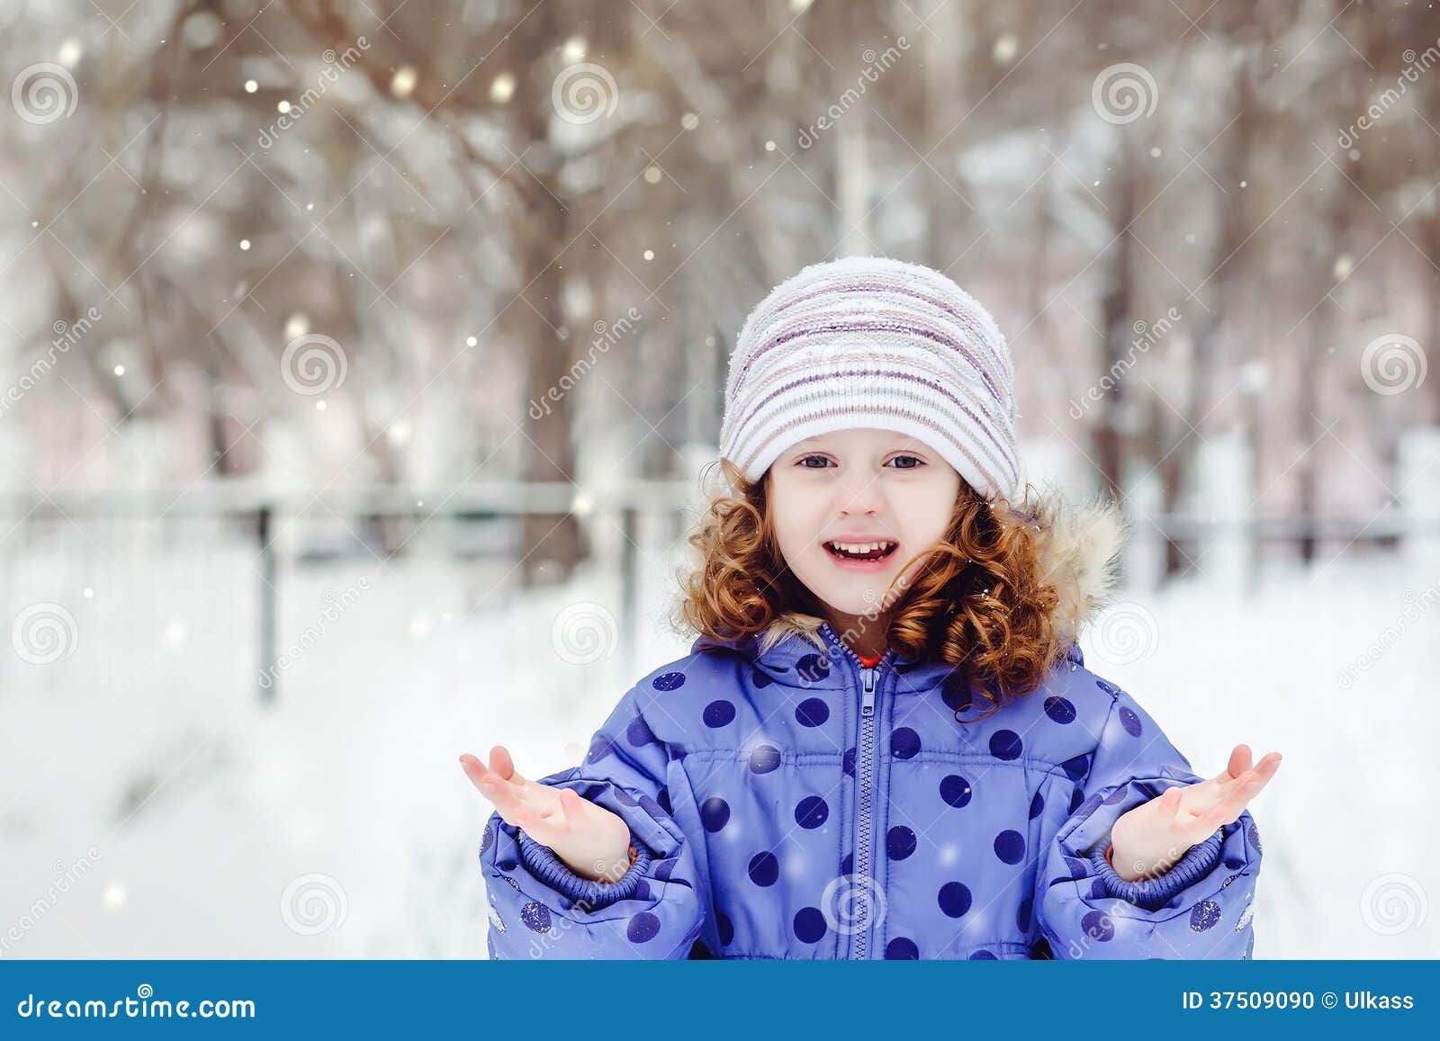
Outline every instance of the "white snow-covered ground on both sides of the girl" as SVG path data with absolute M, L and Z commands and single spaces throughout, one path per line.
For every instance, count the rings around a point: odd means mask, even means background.
M 596 523 L 606 557 L 613 526 Z M 456 756 L 498 742 L 530 776 L 573 763 L 634 678 L 685 648 L 660 623 L 672 554 L 642 556 L 631 649 L 611 642 L 609 569 L 517 599 L 508 562 L 422 543 L 390 567 L 282 569 L 282 645 L 321 625 L 325 590 L 359 593 L 262 710 L 248 543 L 144 527 L 95 531 L 79 551 L 75 538 L 42 531 L 0 560 L 6 618 L 36 602 L 75 618 L 69 657 L 0 657 L 6 957 L 484 956 L 488 805 Z M 1130 661 L 1116 623 L 1081 641 L 1087 664 L 1198 772 L 1240 740 L 1284 753 L 1254 806 L 1256 956 L 1440 955 L 1426 906 L 1440 885 L 1426 773 L 1440 562 L 1351 554 L 1272 569 L 1253 596 L 1191 583 L 1122 598 L 1148 654 Z

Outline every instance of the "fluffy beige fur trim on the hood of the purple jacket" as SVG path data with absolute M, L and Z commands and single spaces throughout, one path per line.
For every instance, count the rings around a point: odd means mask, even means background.
M 1058 492 L 1047 492 L 1027 505 L 1028 511 L 1020 515 L 1035 528 L 1043 579 L 1058 593 L 1051 613 L 1056 632 L 1064 644 L 1079 644 L 1086 621 L 1115 590 L 1115 566 L 1129 523 L 1113 500 L 1070 504 Z M 786 612 L 760 635 L 756 654 L 765 654 L 791 635 L 824 649 L 822 622 L 815 615 Z

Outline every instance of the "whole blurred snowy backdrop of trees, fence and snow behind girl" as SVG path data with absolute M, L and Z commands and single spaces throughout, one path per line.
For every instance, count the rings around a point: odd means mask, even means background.
M 1286 753 L 1256 956 L 1440 953 L 1433 4 L 0 0 L 0 956 L 481 956 L 455 756 L 684 652 L 734 337 L 850 253 L 1126 505 L 1087 662 Z

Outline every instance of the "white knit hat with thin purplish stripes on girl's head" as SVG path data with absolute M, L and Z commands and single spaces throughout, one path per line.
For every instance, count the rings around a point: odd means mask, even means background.
M 986 498 L 1020 490 L 1014 371 L 989 312 L 930 268 L 812 263 L 746 318 L 720 456 L 750 481 L 799 441 L 850 426 L 912 436 Z

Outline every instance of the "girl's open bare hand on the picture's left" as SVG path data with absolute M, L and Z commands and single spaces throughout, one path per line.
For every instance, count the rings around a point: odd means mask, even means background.
M 524 828 L 582 878 L 616 883 L 629 870 L 629 825 L 611 811 L 521 778 L 503 744 L 490 750 L 490 766 L 468 753 L 459 765 L 505 824 Z

